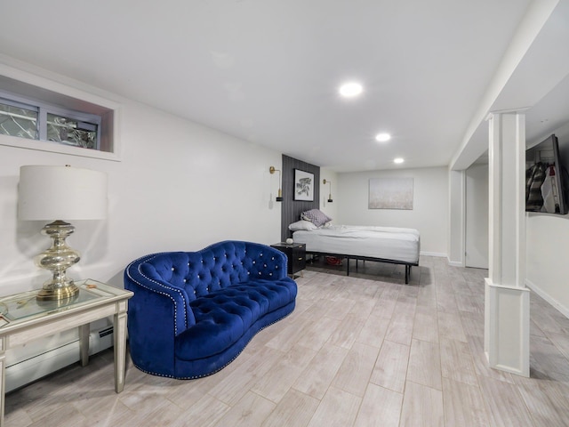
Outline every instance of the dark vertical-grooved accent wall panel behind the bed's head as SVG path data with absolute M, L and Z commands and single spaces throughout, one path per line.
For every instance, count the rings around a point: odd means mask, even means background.
M 294 169 L 314 173 L 314 201 L 294 200 Z M 283 155 L 283 202 L 281 206 L 281 240 L 293 236 L 289 224 L 299 221 L 301 213 L 309 209 L 320 209 L 320 166 L 310 165 L 293 157 Z

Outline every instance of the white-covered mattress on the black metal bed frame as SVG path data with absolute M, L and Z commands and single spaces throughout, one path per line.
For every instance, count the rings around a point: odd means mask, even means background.
M 381 258 L 395 262 L 419 263 L 419 230 L 395 227 L 332 225 L 317 230 L 293 232 L 296 243 L 307 252 Z

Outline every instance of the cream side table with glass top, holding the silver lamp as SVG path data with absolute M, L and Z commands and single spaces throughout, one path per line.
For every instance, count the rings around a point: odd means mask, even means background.
M 124 389 L 126 310 L 132 292 L 96 280 L 76 282 L 79 293 L 61 301 L 38 301 L 39 289 L 0 298 L 0 426 L 4 425 L 5 352 L 43 336 L 79 328 L 81 365 L 89 363 L 89 324 L 113 317 L 115 391 Z

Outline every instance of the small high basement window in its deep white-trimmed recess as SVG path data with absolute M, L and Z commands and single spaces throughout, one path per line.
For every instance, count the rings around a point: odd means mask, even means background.
M 0 145 L 119 160 L 118 106 L 89 93 L 66 92 L 75 96 L 0 76 Z

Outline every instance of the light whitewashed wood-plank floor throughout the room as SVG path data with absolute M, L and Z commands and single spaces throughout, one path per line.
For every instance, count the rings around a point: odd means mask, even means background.
M 324 271 L 305 270 L 293 314 L 215 375 L 176 381 L 129 361 L 116 394 L 107 350 L 10 393 L 7 425 L 569 426 L 569 319 L 537 295 L 527 379 L 486 365 L 487 271 L 434 257 L 409 285 L 389 264 Z

